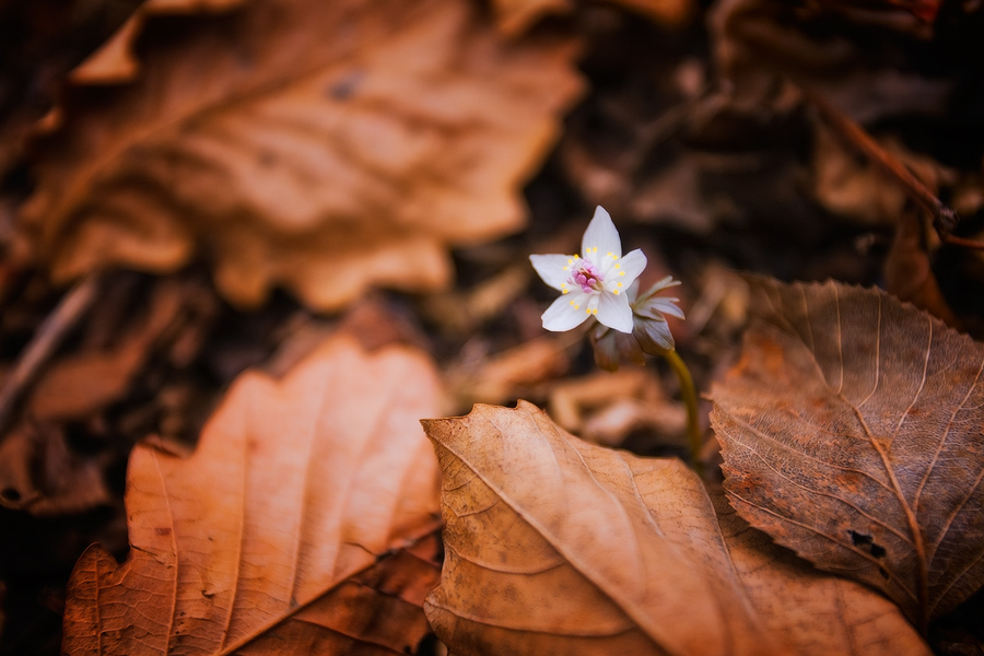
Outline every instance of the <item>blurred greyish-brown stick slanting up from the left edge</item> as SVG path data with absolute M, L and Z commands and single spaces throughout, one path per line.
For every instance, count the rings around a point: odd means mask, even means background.
M 61 340 L 92 306 L 99 289 L 99 277 L 89 276 L 73 286 L 42 323 L 31 343 L 21 353 L 13 372 L 0 388 L 0 434 L 7 429 L 14 408 L 37 377 L 42 366 L 58 349 Z

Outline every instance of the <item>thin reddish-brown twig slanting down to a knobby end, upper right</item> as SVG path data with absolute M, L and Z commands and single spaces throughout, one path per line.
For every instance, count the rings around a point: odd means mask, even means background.
M 944 204 L 898 157 L 885 150 L 854 119 L 819 95 L 807 90 L 801 91 L 831 128 L 893 177 L 909 192 L 910 198 L 933 216 L 933 227 L 940 237 L 947 238 L 953 232 L 960 223 L 960 216 L 953 208 Z

